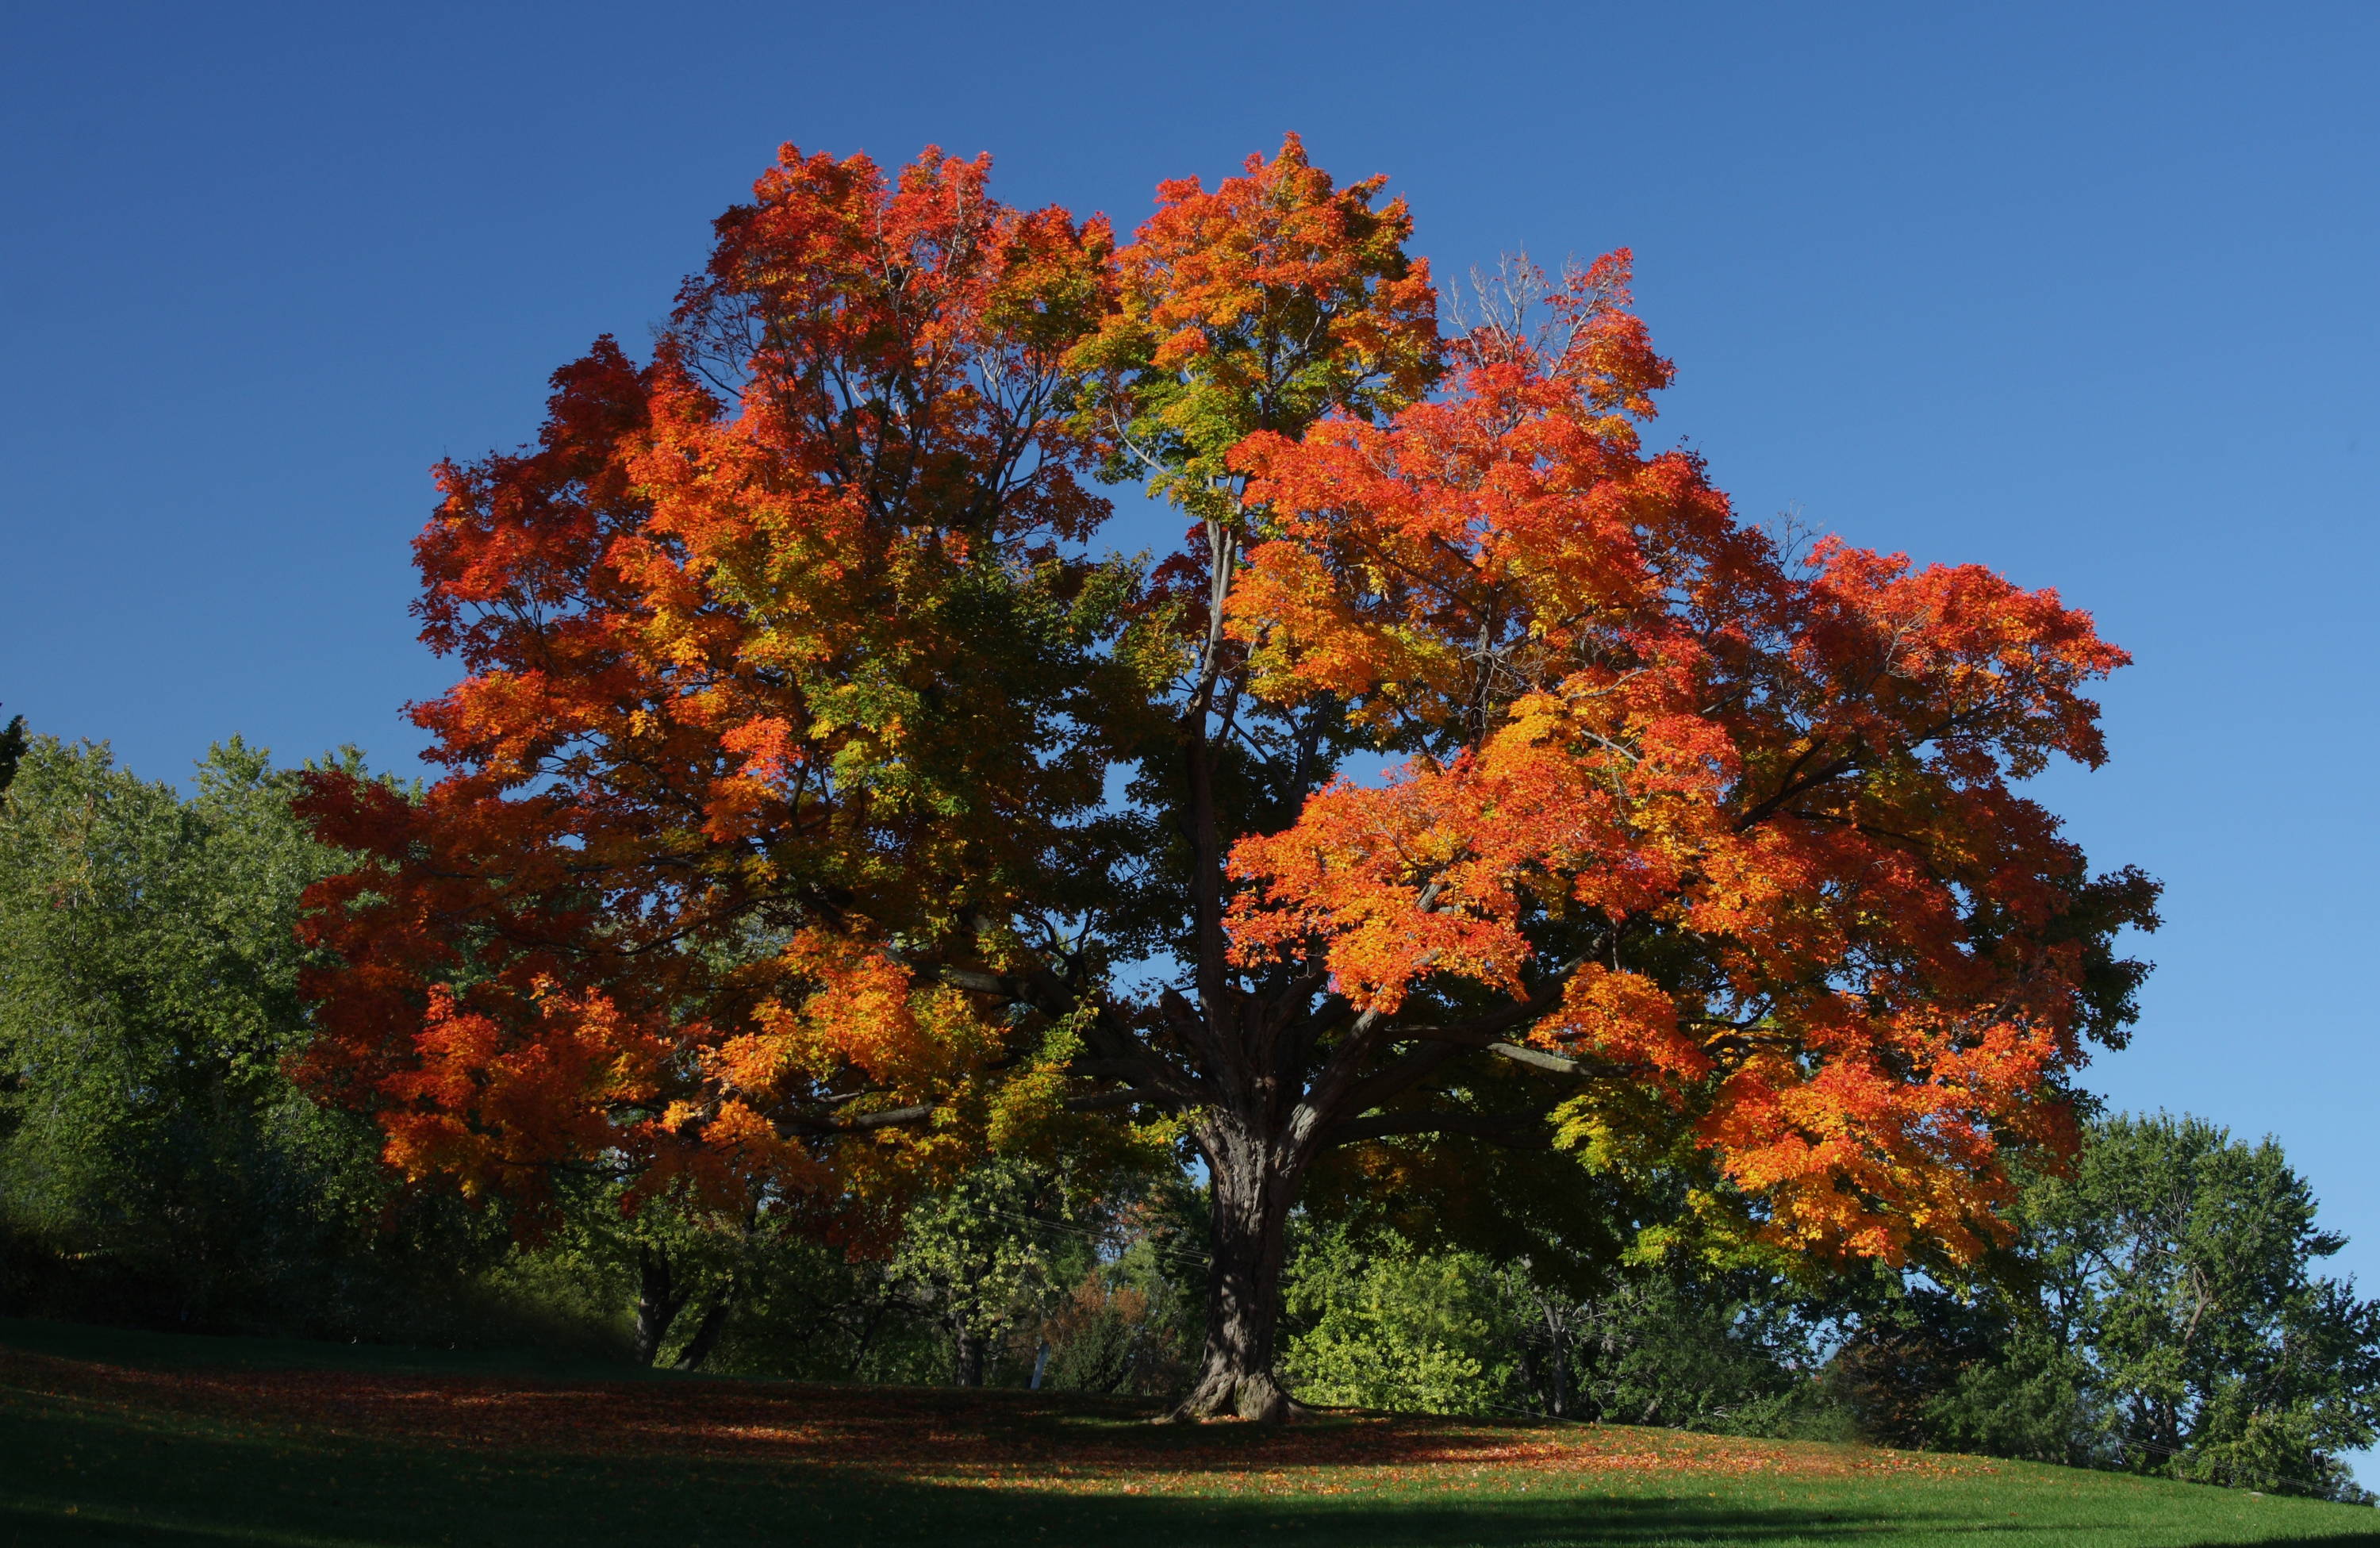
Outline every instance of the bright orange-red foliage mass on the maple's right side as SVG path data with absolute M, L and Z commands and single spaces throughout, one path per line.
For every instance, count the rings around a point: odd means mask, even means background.
M 1521 276 L 1521 295 L 1535 276 Z M 1319 953 L 1359 1007 L 1526 995 L 1528 1041 L 1659 1091 L 1790 1246 L 1973 1257 L 2002 1143 L 2054 1146 L 2082 1060 L 2082 857 L 2009 788 L 2102 760 L 2123 664 L 2056 593 L 1735 522 L 1630 414 L 1668 381 L 1628 255 L 1473 331 L 1385 424 L 1252 436 L 1266 541 L 1230 598 L 1276 698 L 1428 753 L 1247 836 L 1242 962 Z M 2135 876 L 2094 926 L 2147 922 Z M 1630 967 L 1630 962 L 1635 962 Z

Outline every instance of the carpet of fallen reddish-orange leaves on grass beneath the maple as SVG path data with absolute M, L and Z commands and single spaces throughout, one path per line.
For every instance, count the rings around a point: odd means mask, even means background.
M 1990 1472 L 1868 1446 L 1661 1429 L 1328 1415 L 1280 1429 L 1150 1424 L 1078 1393 L 795 1381 L 538 1381 L 376 1372 L 133 1369 L 0 1350 L 0 1396 L 466 1450 L 685 1455 L 1073 1493 L 1507 1488 L 1514 1474 L 1854 1477 Z

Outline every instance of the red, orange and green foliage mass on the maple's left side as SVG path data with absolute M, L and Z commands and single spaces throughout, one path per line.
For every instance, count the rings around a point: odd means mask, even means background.
M 362 864 L 309 895 L 302 1072 L 407 1172 L 835 1205 L 962 1153 L 1002 1031 L 892 945 L 1012 907 L 1100 795 L 1047 722 L 1107 510 L 1054 412 L 1107 233 L 985 171 L 785 148 L 650 367 L 600 341 L 536 450 L 440 469 L 450 774 L 307 798 Z

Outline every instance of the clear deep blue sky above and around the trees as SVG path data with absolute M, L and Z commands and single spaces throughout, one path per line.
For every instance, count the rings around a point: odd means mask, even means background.
M 1285 129 L 1445 274 L 1637 252 L 1747 517 L 2137 664 L 2047 798 L 2166 881 L 2123 1107 L 2275 1134 L 2380 1288 L 2380 7 L 0 7 L 0 700 L 181 776 L 362 743 L 426 467 L 638 345 L 781 141 L 1130 226 Z

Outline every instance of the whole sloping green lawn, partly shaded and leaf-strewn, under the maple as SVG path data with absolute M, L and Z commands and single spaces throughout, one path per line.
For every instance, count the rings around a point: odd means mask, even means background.
M 0 1322 L 10 1543 L 2375 1543 L 2380 1512 L 2021 1462 Z

